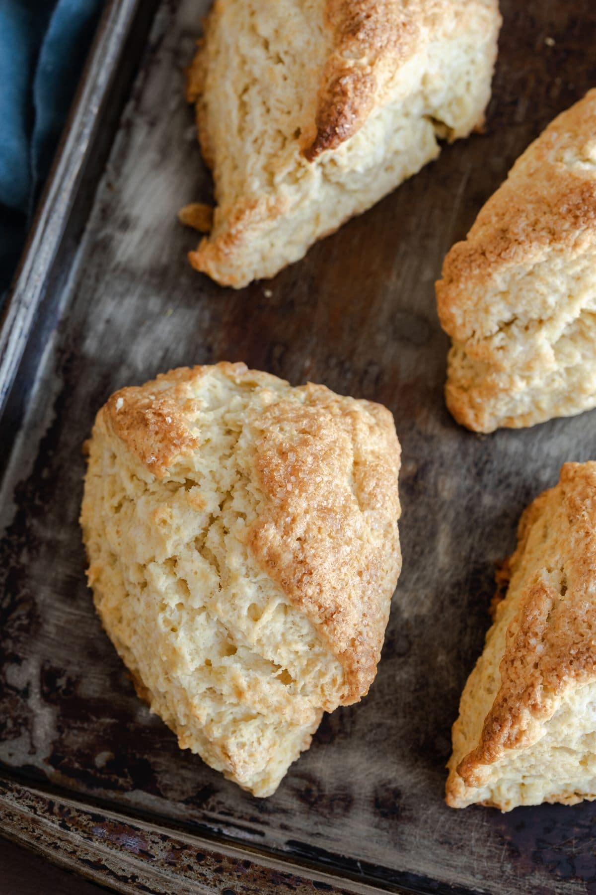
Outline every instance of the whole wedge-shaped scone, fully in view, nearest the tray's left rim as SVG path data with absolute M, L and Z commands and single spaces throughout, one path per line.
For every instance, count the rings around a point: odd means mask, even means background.
M 180 746 L 256 796 L 374 679 L 398 473 L 384 407 L 243 363 L 122 388 L 97 414 L 81 513 L 97 611 Z

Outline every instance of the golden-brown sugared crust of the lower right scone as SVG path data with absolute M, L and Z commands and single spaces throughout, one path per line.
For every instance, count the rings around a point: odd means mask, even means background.
M 499 664 L 500 686 L 483 724 L 478 746 L 449 775 L 448 801 L 457 805 L 463 780 L 468 787 L 482 783 L 486 765 L 509 749 L 533 741 L 533 721 L 550 718 L 553 699 L 568 686 L 596 679 L 596 463 L 567 463 L 556 488 L 545 491 L 521 517 L 518 544 L 509 560 L 511 575 L 524 561 L 530 533 L 553 507 L 564 507 L 566 529 L 562 545 L 561 590 L 531 569 L 515 617 L 508 626 L 506 648 Z M 544 558 L 544 562 L 556 558 Z M 550 571 L 550 570 L 549 570 Z M 563 592 L 564 590 L 564 592 Z M 565 599 L 562 599 L 565 597 Z M 499 604 L 504 609 L 509 594 Z M 540 647 L 537 649 L 537 647 Z M 556 798 L 553 796 L 554 801 Z

